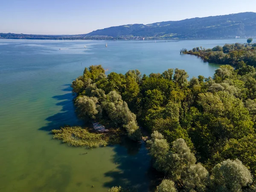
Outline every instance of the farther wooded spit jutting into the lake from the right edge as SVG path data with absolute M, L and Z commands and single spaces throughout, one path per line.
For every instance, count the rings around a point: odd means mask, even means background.
M 196 55 L 209 63 L 229 64 L 235 67 L 256 67 L 256 44 L 225 44 L 223 47 L 216 46 L 212 49 L 195 47 L 192 50 L 181 50 L 184 54 Z

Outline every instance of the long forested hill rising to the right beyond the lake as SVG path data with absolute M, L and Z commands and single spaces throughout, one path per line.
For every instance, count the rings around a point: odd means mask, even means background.
M 152 24 L 130 24 L 99 29 L 86 34 L 143 36 L 157 38 L 227 38 L 229 36 L 256 36 L 256 13 L 246 12 L 180 21 Z

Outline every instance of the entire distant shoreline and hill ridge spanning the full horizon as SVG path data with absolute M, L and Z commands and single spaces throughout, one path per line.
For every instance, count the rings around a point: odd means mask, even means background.
M 0 33 L 15 39 L 202 39 L 256 37 L 256 13 L 194 17 L 178 21 L 127 24 L 80 35 L 27 35 Z

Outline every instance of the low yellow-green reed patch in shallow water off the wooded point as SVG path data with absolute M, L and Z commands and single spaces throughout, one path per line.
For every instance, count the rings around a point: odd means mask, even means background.
M 66 126 L 52 130 L 54 139 L 62 140 L 63 143 L 67 143 L 68 145 L 87 148 L 97 148 L 120 143 L 119 132 L 119 129 L 110 130 L 108 133 L 91 132 L 86 128 L 78 126 Z

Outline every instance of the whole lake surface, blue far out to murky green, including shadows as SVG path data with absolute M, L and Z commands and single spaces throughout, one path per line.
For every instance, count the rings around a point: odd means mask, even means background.
M 108 73 L 180 68 L 190 77 L 208 77 L 218 65 L 179 50 L 235 42 L 0 40 L 0 191 L 107 192 L 114 185 L 148 191 L 150 158 L 144 145 L 87 150 L 52 139 L 51 129 L 82 125 L 70 83 L 95 64 Z M 84 151 L 88 154 L 79 155 Z

